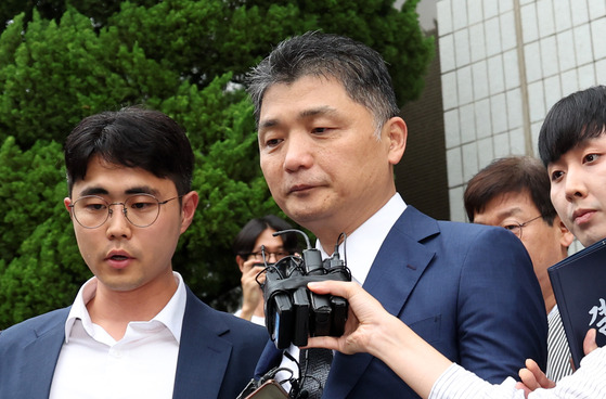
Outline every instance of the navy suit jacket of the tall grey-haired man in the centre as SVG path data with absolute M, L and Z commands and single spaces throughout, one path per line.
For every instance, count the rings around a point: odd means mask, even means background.
M 541 289 L 519 239 L 502 228 L 437 221 L 408 206 L 383 243 L 364 288 L 450 360 L 501 383 L 527 358 L 545 370 Z M 278 365 L 272 342 L 256 377 Z M 385 363 L 336 353 L 323 398 L 417 398 Z

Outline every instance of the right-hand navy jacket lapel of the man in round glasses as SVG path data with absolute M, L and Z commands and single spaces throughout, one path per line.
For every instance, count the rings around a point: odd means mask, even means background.
M 172 397 L 216 398 L 232 351 L 232 345 L 221 338 L 229 327 L 190 288 L 186 289 Z

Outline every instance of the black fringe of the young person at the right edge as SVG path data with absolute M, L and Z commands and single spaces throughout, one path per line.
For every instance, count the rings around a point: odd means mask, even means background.
M 539 155 L 543 165 L 583 141 L 604 134 L 606 128 L 606 87 L 595 86 L 559 100 L 550 110 L 539 133 Z

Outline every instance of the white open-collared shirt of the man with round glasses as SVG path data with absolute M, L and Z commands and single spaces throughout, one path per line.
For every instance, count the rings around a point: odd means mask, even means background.
M 115 340 L 92 323 L 86 304 L 96 293 L 96 278 L 82 285 L 65 322 L 65 342 L 50 399 L 166 399 L 172 397 L 186 292 L 178 287 L 156 317 L 132 321 Z

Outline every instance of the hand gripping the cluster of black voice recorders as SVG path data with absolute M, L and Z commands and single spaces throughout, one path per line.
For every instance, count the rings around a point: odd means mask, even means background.
M 340 337 L 310 337 L 307 346 L 334 349 L 346 355 L 372 353 L 373 339 L 385 334 L 392 319 L 383 306 L 353 282 L 323 281 L 309 283 L 308 287 L 317 294 L 330 293 L 346 298 L 349 301 L 349 316 Z

